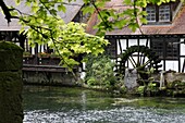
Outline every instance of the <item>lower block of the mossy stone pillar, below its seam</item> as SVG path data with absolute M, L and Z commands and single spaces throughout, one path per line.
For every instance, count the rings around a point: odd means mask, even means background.
M 22 123 L 22 72 L 0 72 L 0 123 Z

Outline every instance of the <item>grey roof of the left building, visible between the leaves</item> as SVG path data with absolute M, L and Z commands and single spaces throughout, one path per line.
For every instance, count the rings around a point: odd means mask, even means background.
M 13 5 L 16 7 L 17 10 L 24 13 L 29 13 L 29 9 L 25 7 L 24 3 L 20 5 L 15 5 L 14 0 L 4 0 L 7 5 Z M 65 5 L 66 7 L 66 12 L 60 12 L 58 13 L 65 23 L 71 22 L 74 16 L 77 14 L 77 12 L 81 10 L 83 7 L 84 2 L 83 0 L 76 0 L 75 2 L 72 2 L 71 5 Z M 8 25 L 7 20 L 4 19 L 4 15 L 0 12 L 0 30 L 20 30 L 21 26 L 17 22 L 17 20 L 11 20 L 12 22 Z

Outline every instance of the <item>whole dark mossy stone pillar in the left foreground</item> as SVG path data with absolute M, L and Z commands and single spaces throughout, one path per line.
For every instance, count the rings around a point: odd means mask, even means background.
M 23 123 L 23 50 L 0 41 L 0 123 Z

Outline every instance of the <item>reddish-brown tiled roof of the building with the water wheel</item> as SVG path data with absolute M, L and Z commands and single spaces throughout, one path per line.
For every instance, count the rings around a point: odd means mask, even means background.
M 119 5 L 121 0 L 112 0 L 112 2 L 108 3 L 108 8 L 114 9 L 126 9 L 125 5 Z M 94 13 L 91 19 L 88 22 L 87 33 L 96 34 L 96 29 L 92 28 L 95 24 L 98 23 L 97 13 Z M 145 35 L 172 35 L 172 34 L 185 34 L 185 7 L 182 7 L 172 24 L 166 25 L 143 25 L 140 27 Z M 124 27 L 122 29 L 115 28 L 112 32 L 107 32 L 107 35 L 141 35 L 140 30 L 137 29 L 133 33 L 128 27 Z

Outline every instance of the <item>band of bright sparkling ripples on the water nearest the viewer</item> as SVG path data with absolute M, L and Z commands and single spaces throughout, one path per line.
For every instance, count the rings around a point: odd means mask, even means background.
M 122 107 L 111 110 L 25 111 L 24 123 L 183 123 L 185 114 L 155 108 Z

